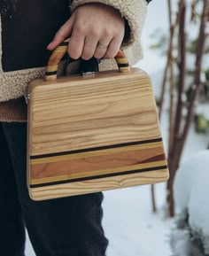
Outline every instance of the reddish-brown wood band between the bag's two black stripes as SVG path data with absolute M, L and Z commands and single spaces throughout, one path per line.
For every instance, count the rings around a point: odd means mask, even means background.
M 61 158 L 55 156 L 46 159 L 31 159 L 31 179 L 40 179 L 39 182 L 42 183 L 42 178 L 56 175 L 66 175 L 67 179 L 70 179 L 116 173 L 122 168 L 124 171 L 138 169 L 145 163 L 148 163 L 149 167 L 149 164 L 150 166 L 152 163 L 158 164 L 162 160 L 165 160 L 162 144 L 159 144 L 159 147 L 148 149 L 122 147 L 107 152 L 91 151 L 91 156 L 83 156 L 81 153 L 61 156 Z

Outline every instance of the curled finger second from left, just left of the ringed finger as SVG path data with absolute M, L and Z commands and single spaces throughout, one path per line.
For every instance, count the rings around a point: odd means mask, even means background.
M 89 35 L 85 38 L 81 58 L 88 60 L 94 56 L 97 49 L 98 39 L 98 37 L 93 37 L 92 35 Z

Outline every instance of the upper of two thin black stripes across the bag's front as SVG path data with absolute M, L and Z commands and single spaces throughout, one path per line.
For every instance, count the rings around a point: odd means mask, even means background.
M 120 148 L 120 147 L 128 147 L 128 146 L 139 145 L 139 144 L 158 143 L 161 141 L 162 141 L 162 138 L 156 138 L 156 139 L 151 139 L 151 140 L 127 143 L 127 144 L 114 144 L 114 145 L 107 145 L 107 146 L 102 146 L 102 147 L 81 149 L 81 150 L 75 150 L 75 151 L 62 151 L 62 152 L 57 152 L 57 153 L 36 155 L 36 156 L 30 156 L 30 159 L 43 159 L 43 158 L 71 155 L 71 154 L 77 154 L 77 153 L 83 153 L 83 152 L 89 152 L 89 151 L 102 151 L 102 150 L 108 150 L 108 149 L 114 149 L 114 148 Z

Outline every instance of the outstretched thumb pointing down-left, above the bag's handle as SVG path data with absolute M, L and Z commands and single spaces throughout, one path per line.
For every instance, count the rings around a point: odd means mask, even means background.
M 54 50 L 59 43 L 62 43 L 66 37 L 72 34 L 72 30 L 74 27 L 74 16 L 66 21 L 66 23 L 58 29 L 55 37 L 52 42 L 47 46 L 48 50 Z

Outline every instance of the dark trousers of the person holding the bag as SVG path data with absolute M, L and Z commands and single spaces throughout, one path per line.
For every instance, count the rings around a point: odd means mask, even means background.
M 0 255 L 104 256 L 102 193 L 35 202 L 27 192 L 27 123 L 0 122 Z M 27 255 L 30 256 L 30 255 Z

